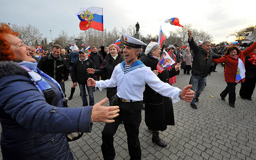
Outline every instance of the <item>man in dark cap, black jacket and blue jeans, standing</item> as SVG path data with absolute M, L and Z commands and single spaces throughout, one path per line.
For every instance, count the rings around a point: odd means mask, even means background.
M 86 71 L 87 68 L 95 69 L 94 63 L 89 57 L 87 57 L 87 54 L 84 52 L 84 50 L 80 50 L 79 59 L 76 59 L 73 65 L 72 82 L 73 82 L 73 85 L 75 86 L 77 86 L 77 83 L 78 83 L 78 86 L 80 88 L 81 98 L 83 101 L 83 107 L 88 106 L 85 87 L 89 95 L 90 106 L 94 105 L 94 95 L 92 92 L 92 87 L 87 86 L 87 79 L 89 77 L 92 77 L 92 74 L 87 73 Z

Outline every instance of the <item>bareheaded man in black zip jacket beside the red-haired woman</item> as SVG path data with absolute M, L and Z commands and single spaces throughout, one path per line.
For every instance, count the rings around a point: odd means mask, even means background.
M 64 81 L 68 80 L 68 63 L 67 61 L 60 57 L 61 46 L 54 44 L 52 47 L 52 53 L 42 57 L 37 65 L 37 67 L 55 79 L 62 88 L 65 94 L 65 84 Z M 66 97 L 66 96 L 65 96 Z

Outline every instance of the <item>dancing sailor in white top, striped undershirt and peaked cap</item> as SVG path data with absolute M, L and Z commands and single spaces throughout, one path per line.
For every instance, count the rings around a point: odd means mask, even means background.
M 172 87 L 168 83 L 162 82 L 150 69 L 137 59 L 140 48 L 146 45 L 136 38 L 124 35 L 124 60 L 116 65 L 110 79 L 105 81 L 94 81 L 89 78 L 88 86 L 98 87 L 100 91 L 106 87 L 116 87 L 117 93 L 112 97 L 113 105 L 118 105 L 119 116 L 115 117 L 115 122 L 106 123 L 102 131 L 102 154 L 104 160 L 113 160 L 115 158 L 114 134 L 118 125 L 123 121 L 127 134 L 128 151 L 131 160 L 141 159 L 141 149 L 139 135 L 139 126 L 141 122 L 142 99 L 145 84 L 163 96 L 172 98 L 173 103 L 180 99 L 191 102 L 194 97 L 194 91 L 190 90 L 192 85 L 188 85 L 180 90 Z

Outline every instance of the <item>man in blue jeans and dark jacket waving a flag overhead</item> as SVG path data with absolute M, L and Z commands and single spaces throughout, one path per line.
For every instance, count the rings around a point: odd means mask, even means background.
M 206 85 L 207 75 L 211 67 L 212 58 L 220 58 L 221 55 L 215 54 L 211 51 L 210 41 L 204 41 L 202 46 L 196 45 L 190 30 L 188 31 L 188 43 L 194 52 L 190 84 L 192 85 L 191 90 L 195 92 L 195 95 L 190 105 L 192 108 L 197 109 L 196 102 L 199 101 L 198 97 Z

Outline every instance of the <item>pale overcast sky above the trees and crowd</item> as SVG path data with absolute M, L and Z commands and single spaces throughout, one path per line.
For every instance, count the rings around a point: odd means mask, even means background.
M 242 2 L 242 4 L 241 4 Z M 176 17 L 180 24 L 209 32 L 214 43 L 234 41 L 229 34 L 256 25 L 255 0 L 0 0 L 0 22 L 36 26 L 50 41 L 61 30 L 78 34 L 80 20 L 76 12 L 91 6 L 103 8 L 106 31 L 140 24 L 143 36 L 159 34 L 160 25 L 166 36 L 178 26 L 164 22 Z M 189 29 L 189 28 L 188 28 Z

